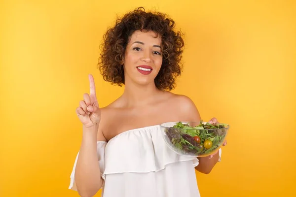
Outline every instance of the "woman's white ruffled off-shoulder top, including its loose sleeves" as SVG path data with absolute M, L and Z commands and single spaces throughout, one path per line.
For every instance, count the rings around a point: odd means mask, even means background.
M 97 141 L 97 154 L 102 197 L 200 197 L 194 168 L 198 159 L 168 148 L 159 125 L 124 131 L 108 143 Z M 220 161 L 221 149 L 219 155 Z

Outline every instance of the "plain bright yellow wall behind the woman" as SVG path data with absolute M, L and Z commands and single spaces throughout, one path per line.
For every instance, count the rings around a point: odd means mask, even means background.
M 96 68 L 99 44 L 115 14 L 136 6 L 167 12 L 185 33 L 174 92 L 193 99 L 203 119 L 231 125 L 222 163 L 197 173 L 202 197 L 292 197 L 293 0 L 1 1 L 0 196 L 78 196 L 67 189 L 81 140 L 75 108 L 88 73 L 101 106 L 122 93 Z

